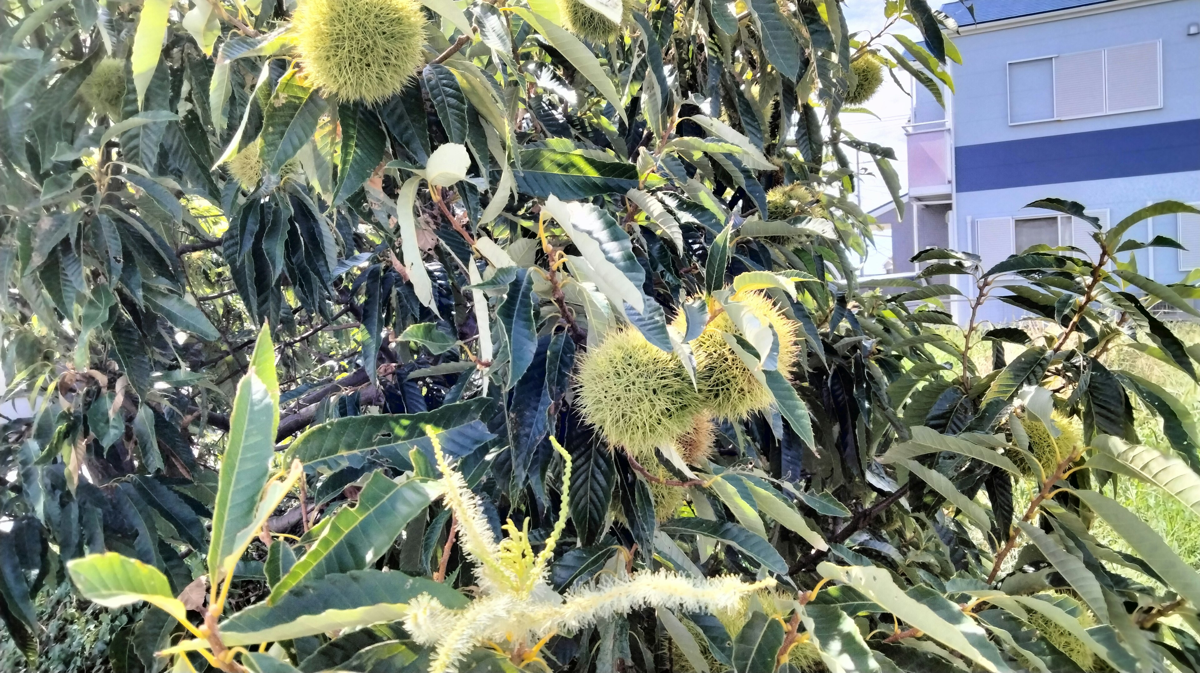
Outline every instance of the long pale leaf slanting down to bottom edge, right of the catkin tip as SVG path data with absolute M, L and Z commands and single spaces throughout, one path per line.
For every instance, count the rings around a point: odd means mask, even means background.
M 908 626 L 918 629 L 928 637 L 956 650 L 980 668 L 998 673 L 1000 669 L 996 665 L 972 645 L 959 629 L 938 617 L 929 606 L 922 605 L 901 591 L 893 582 L 892 575 L 882 567 L 860 565 L 842 567 L 822 561 L 817 566 L 817 572 L 822 577 L 835 579 L 858 590 L 878 603 L 886 612 L 890 612 Z

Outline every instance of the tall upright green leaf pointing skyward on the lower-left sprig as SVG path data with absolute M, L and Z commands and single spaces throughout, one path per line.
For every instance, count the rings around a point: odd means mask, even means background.
M 217 495 L 212 506 L 209 541 L 209 577 L 216 584 L 223 577 L 228 558 L 241 557 L 257 530 L 254 521 L 275 456 L 275 433 L 280 427 L 280 384 L 275 378 L 275 347 L 270 325 L 258 332 L 250 371 L 238 383 L 238 395 L 229 415 L 229 440 L 221 456 Z

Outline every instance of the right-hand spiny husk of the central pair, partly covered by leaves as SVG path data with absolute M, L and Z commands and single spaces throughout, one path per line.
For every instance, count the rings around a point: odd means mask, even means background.
M 779 371 L 788 375 L 799 353 L 799 325 L 784 316 L 775 302 L 762 293 L 746 293 L 739 302 L 775 330 L 779 337 Z M 722 312 L 691 342 L 696 356 L 696 387 L 704 408 L 716 419 L 743 420 L 770 407 L 774 399 L 770 390 L 755 378 L 721 336 L 721 332 L 736 331 L 728 313 Z

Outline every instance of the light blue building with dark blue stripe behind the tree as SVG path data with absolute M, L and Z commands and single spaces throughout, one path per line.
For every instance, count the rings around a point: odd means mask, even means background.
M 914 88 L 910 212 L 878 214 L 893 222 L 893 272 L 913 271 L 908 257 L 929 246 L 985 265 L 1034 244 L 1094 254 L 1087 223 L 1024 208 L 1045 197 L 1079 202 L 1105 227 L 1150 203 L 1200 203 L 1200 0 L 967 2 L 974 18 L 942 6 L 962 56 L 946 108 Z M 1156 217 L 1130 235 L 1188 247 L 1122 254 L 1146 276 L 1172 283 L 1200 268 L 1200 216 Z M 983 318 L 1020 316 L 989 301 Z

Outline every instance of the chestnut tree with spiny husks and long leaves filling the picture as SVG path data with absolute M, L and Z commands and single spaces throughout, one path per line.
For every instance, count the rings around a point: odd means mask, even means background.
M 847 151 L 904 204 L 841 120 L 884 78 L 942 100 L 959 55 L 925 0 L 844 10 L 7 2 L 0 618 L 30 666 L 70 582 L 151 606 L 119 672 L 1200 672 L 1200 575 L 1104 494 L 1200 515 L 1190 410 L 1105 363 L 1196 379 L 1159 310 L 1200 288 L 1122 253 L 1198 211 L 1102 232 L 1048 198 L 1098 258 L 859 278 Z

